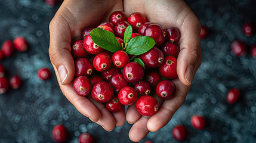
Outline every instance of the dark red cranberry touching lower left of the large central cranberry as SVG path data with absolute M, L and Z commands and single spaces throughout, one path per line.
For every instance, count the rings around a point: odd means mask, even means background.
M 127 82 L 127 80 L 125 80 L 122 73 L 117 73 L 113 75 L 109 83 L 112 85 L 116 94 L 118 94 L 118 92 L 125 86 L 129 86 L 129 83 Z

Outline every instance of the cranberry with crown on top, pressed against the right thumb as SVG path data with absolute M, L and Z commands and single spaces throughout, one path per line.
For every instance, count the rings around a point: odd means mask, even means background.
M 165 57 L 164 63 L 159 67 L 159 73 L 166 79 L 175 79 L 177 74 L 177 59 L 168 56 Z

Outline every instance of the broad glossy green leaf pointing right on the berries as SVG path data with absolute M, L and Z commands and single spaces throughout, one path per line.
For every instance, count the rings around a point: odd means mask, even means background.
M 154 39 L 149 36 L 137 36 L 129 41 L 125 52 L 130 55 L 141 55 L 152 49 L 155 44 Z

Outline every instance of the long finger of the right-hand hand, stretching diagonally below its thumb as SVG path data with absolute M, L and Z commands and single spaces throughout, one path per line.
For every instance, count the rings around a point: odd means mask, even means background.
M 150 117 L 149 121 L 147 122 L 147 129 L 149 129 L 150 132 L 156 132 L 167 125 L 175 111 L 177 111 L 178 108 L 180 108 L 180 106 L 183 104 L 187 92 L 189 92 L 190 87 L 183 85 L 180 80 L 175 79 L 172 82 L 174 82 L 176 85 L 175 95 L 173 98 L 165 100 L 158 112 Z

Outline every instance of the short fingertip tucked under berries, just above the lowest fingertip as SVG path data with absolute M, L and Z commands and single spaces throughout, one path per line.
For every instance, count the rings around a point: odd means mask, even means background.
M 126 119 L 129 124 L 135 123 L 138 119 L 140 119 L 141 115 L 136 110 L 135 104 L 129 105 L 127 108 Z

